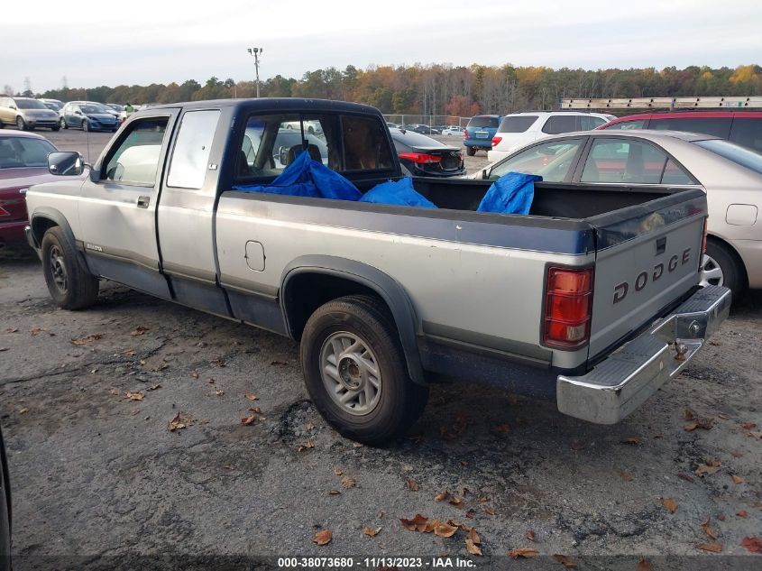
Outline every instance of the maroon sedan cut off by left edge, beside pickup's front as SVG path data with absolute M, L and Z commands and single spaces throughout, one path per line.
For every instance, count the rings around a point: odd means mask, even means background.
M 48 153 L 58 151 L 40 134 L 0 131 L 0 247 L 25 244 L 26 189 L 60 180 L 48 172 Z

